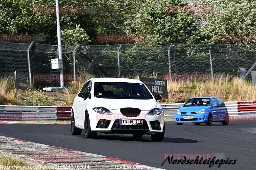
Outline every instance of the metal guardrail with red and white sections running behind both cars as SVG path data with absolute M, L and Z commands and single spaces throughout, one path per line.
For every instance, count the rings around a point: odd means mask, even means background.
M 255 114 L 256 101 L 224 102 L 229 115 Z M 173 118 L 176 110 L 184 103 L 162 104 L 164 116 Z M 71 106 L 10 106 L 0 105 L 0 120 L 70 120 Z

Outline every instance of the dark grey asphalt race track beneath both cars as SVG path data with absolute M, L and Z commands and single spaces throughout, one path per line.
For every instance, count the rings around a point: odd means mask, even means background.
M 162 143 L 152 142 L 149 135 L 134 139 L 132 135 L 98 133 L 96 139 L 86 139 L 70 133 L 70 125 L 53 124 L 0 124 L 0 135 L 16 137 L 36 143 L 70 148 L 104 155 L 164 169 L 255 169 L 256 122 L 235 122 L 223 126 L 192 123 L 182 126 L 165 122 Z M 236 159 L 235 165 L 173 165 L 164 163 L 164 154 L 220 153 L 225 159 Z

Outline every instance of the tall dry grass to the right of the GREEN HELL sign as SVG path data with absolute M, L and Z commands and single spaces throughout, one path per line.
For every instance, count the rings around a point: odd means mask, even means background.
M 256 100 L 256 86 L 250 81 L 220 75 L 211 81 L 168 82 L 168 98 L 172 103 L 184 102 L 191 97 L 214 96 L 224 101 Z

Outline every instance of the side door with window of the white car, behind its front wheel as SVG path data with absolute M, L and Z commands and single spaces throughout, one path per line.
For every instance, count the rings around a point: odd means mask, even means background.
M 84 100 L 81 97 L 78 97 L 78 102 L 77 102 L 77 114 L 76 114 L 76 122 L 77 125 L 84 127 L 84 114 L 86 110 L 86 106 L 88 105 L 88 100 L 91 100 L 90 94 L 91 94 L 91 88 L 92 87 L 92 82 L 88 81 L 87 83 L 84 84 L 84 86 L 81 89 L 82 93 L 85 93 L 86 100 Z

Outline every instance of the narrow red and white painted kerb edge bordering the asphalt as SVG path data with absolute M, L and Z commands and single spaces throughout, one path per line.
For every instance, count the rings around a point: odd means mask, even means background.
M 139 164 L 139 163 L 136 163 L 136 162 L 122 160 L 122 159 L 118 159 L 118 158 L 111 158 L 111 157 L 107 157 L 107 156 L 103 156 L 103 155 L 97 155 L 97 154 L 88 153 L 88 152 L 81 152 L 81 151 L 76 151 L 76 150 L 68 149 L 68 148 L 62 148 L 62 147 L 57 147 L 57 146 L 39 144 L 39 143 L 36 143 L 36 142 L 30 142 L 30 141 L 26 141 L 26 140 L 22 140 L 22 139 L 17 139 L 17 138 L 13 138 L 13 137 L 5 137 L 5 136 L 0 136 L 0 143 L 2 144 L 2 146 L 0 146 L 0 151 L 2 150 L 2 152 L 6 152 L 6 151 L 3 151 L 3 148 L 5 148 L 5 147 L 4 147 L 4 143 L 1 141 L 1 139 L 12 140 L 13 142 L 16 141 L 16 142 L 21 142 L 21 143 L 24 143 L 24 144 L 26 144 L 26 143 L 35 144 L 37 147 L 41 146 L 40 149 L 44 149 L 44 147 L 54 148 L 54 149 L 60 149 L 60 150 L 68 151 L 68 153 L 70 153 L 70 152 L 72 153 L 73 152 L 73 153 L 79 153 L 79 154 L 85 155 L 87 157 L 89 156 L 89 157 L 94 157 L 94 158 L 99 158 L 99 159 L 105 159 L 105 161 L 107 161 L 108 164 L 113 164 L 115 162 L 118 162 L 119 163 L 119 165 L 118 165 L 119 167 L 122 164 L 126 164 L 126 165 L 132 165 L 132 166 L 141 166 L 141 167 L 143 167 L 143 169 L 164 170 L 162 168 L 156 168 L 156 167 L 152 167 L 152 166 L 142 165 L 142 164 Z M 110 169 L 110 167 L 108 167 L 108 169 Z M 116 169 L 116 168 L 111 168 L 111 169 Z M 131 168 L 131 169 L 133 169 L 133 168 Z

